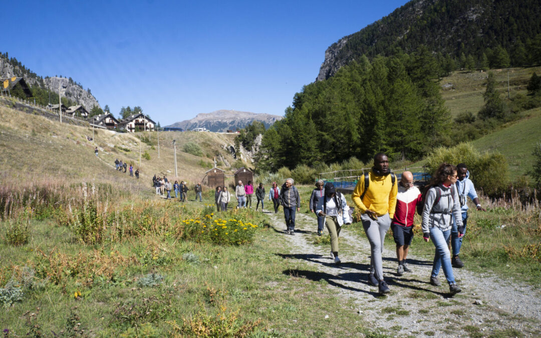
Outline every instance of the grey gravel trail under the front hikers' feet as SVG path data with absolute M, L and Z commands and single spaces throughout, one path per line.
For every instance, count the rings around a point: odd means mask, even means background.
M 269 216 L 275 230 L 286 228 L 283 213 Z M 392 246 L 386 247 L 383 254 L 384 274 L 391 294 L 379 296 L 378 288 L 366 280 L 370 244 L 365 237 L 348 231 L 347 226 L 342 229 L 339 251 L 342 264 L 335 266 L 330 256 L 330 244 L 314 244 L 315 218 L 297 213 L 295 228 L 298 230 L 295 235 L 282 235 L 289 243 L 289 256 L 306 261 L 318 272 L 295 271 L 294 274 L 314 281 L 326 280 L 337 294 L 354 300 L 355 311 L 371 328 L 380 328 L 393 336 L 481 337 L 520 333 L 541 336 L 541 295 L 529 286 L 464 268 L 454 269 L 462 292 L 449 297 L 443 270 L 439 274 L 441 287 L 427 283 L 432 261 L 410 254 L 408 264 L 413 272 L 398 276 Z M 474 304 L 479 301 L 481 304 Z

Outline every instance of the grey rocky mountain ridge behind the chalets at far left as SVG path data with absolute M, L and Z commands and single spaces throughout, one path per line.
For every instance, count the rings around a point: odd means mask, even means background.
M 95 105 L 100 107 L 100 104 L 90 93 L 90 89 L 84 90 L 80 83 L 76 83 L 67 77 L 49 77 L 45 78 L 38 76 L 35 72 L 26 68 L 20 61 L 17 61 L 15 57 L 8 58 L 8 53 L 0 53 L 0 77 L 23 77 L 24 81 L 32 88 L 42 88 L 50 90 L 58 95 L 58 85 L 62 86 L 62 97 L 68 98 L 72 103 L 83 105 L 88 111 L 90 111 Z M 65 87 L 65 88 L 63 88 Z M 34 93 L 37 96 L 37 93 Z M 51 103 L 58 103 L 57 96 L 51 97 L 55 99 Z M 47 104 L 48 102 L 39 102 L 40 104 Z

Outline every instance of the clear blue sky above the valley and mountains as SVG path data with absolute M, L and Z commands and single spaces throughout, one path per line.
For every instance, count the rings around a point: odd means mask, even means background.
M 161 125 L 219 109 L 283 115 L 329 45 L 405 3 L 6 1 L 0 51 L 73 78 L 115 116 L 128 105 Z

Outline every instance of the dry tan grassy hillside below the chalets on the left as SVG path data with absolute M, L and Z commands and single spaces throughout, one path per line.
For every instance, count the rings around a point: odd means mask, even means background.
M 108 130 L 95 130 L 94 142 L 90 128 L 60 124 L 41 116 L 26 114 L 6 108 L 0 101 L 0 170 L 4 177 L 35 179 L 39 177 L 59 177 L 68 181 L 102 180 L 116 184 L 137 185 L 148 182 L 154 174 L 166 174 L 175 179 L 173 147 L 171 141 L 177 140 L 177 167 L 179 180 L 193 183 L 201 180 L 212 167 L 212 157 L 222 154 L 229 163 L 232 156 L 222 145 L 232 145 L 234 135 L 195 132 L 160 132 L 160 158 L 157 158 L 157 133 L 150 133 L 151 145 L 142 143 L 141 151 L 150 155 L 150 161 L 139 161 L 139 140 L 133 134 L 117 134 Z M 148 136 L 149 133 L 142 133 Z M 199 144 L 203 157 L 190 155 L 182 151 L 187 142 Z M 94 156 L 94 147 L 100 149 L 99 161 Z M 120 147 L 120 148 L 119 148 Z M 155 148 L 155 149 L 152 149 Z M 124 151 L 128 149 L 130 151 Z M 127 177 L 127 174 L 116 173 L 111 169 L 114 161 L 133 163 L 134 171 L 140 168 L 141 180 Z M 205 166 L 203 167 L 204 164 Z M 223 166 L 222 166 L 223 168 Z M 227 169 L 227 168 L 224 168 Z M 141 182 L 142 181 L 142 182 Z

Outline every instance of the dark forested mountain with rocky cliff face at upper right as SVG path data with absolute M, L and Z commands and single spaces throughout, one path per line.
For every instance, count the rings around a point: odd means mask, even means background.
M 468 68 L 469 56 L 477 68 L 483 68 L 483 58 L 490 68 L 538 64 L 539 17 L 539 0 L 413 0 L 332 44 L 316 81 L 363 55 L 410 53 L 420 45 L 453 58 L 458 63 L 454 69 Z

